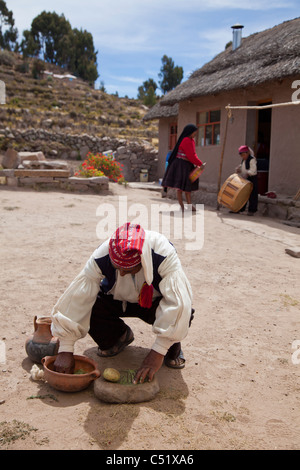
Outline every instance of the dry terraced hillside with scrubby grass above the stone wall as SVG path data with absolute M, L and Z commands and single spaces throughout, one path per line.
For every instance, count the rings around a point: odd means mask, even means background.
M 54 75 L 42 73 L 33 78 L 33 66 L 32 59 L 24 63 L 20 55 L 0 51 L 0 80 L 6 86 L 0 129 L 47 129 L 156 145 L 157 124 L 142 121 L 148 108 L 140 101 L 109 95 L 80 79 L 56 78 L 67 72 L 49 64 L 44 64 L 45 71 Z M 0 150 L 6 147 L 6 139 L 0 136 Z

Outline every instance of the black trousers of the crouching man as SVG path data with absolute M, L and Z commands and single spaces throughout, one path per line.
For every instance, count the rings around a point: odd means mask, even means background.
M 122 318 L 140 318 L 149 325 L 153 325 L 160 300 L 161 297 L 156 298 L 151 308 L 143 308 L 137 303 L 127 302 L 126 311 L 123 312 L 123 303 L 120 300 L 115 300 L 112 295 L 99 292 L 92 309 L 89 335 L 98 344 L 100 349 L 104 351 L 110 349 L 127 329 L 127 325 Z M 181 343 L 175 343 L 171 346 L 168 353 L 172 358 L 176 358 L 180 350 Z

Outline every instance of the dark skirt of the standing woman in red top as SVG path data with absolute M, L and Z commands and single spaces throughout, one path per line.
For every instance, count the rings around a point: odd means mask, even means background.
M 179 189 L 187 193 L 197 191 L 199 180 L 197 179 L 192 183 L 189 179 L 189 175 L 194 168 L 195 166 L 191 162 L 182 158 L 175 158 L 171 165 L 167 167 L 162 180 L 162 186 L 164 188 Z

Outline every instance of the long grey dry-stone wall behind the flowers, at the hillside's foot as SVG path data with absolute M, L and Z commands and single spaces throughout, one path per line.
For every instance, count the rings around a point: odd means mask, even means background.
M 88 134 L 72 135 L 47 129 L 0 129 L 0 140 L 18 151 L 41 150 L 46 158 L 84 160 L 88 152 L 111 152 L 124 165 L 127 181 L 139 181 L 140 171 L 148 170 L 149 181 L 157 180 L 158 151 L 146 141 L 128 141 Z

